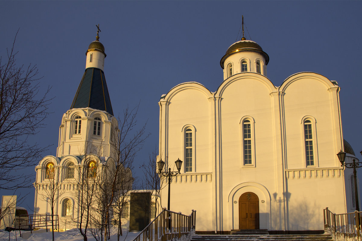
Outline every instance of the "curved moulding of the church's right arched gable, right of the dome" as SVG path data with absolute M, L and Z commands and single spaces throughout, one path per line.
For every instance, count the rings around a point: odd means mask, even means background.
M 315 79 L 316 81 L 323 83 L 326 89 L 329 89 L 331 87 L 336 87 L 336 85 L 334 85 L 332 81 L 330 81 L 327 77 L 321 74 L 317 74 L 314 72 L 300 72 L 286 78 L 285 81 L 283 81 L 282 85 L 279 87 L 279 89 L 280 91 L 285 92 L 288 86 L 292 85 L 294 82 L 298 80 L 306 78 Z

